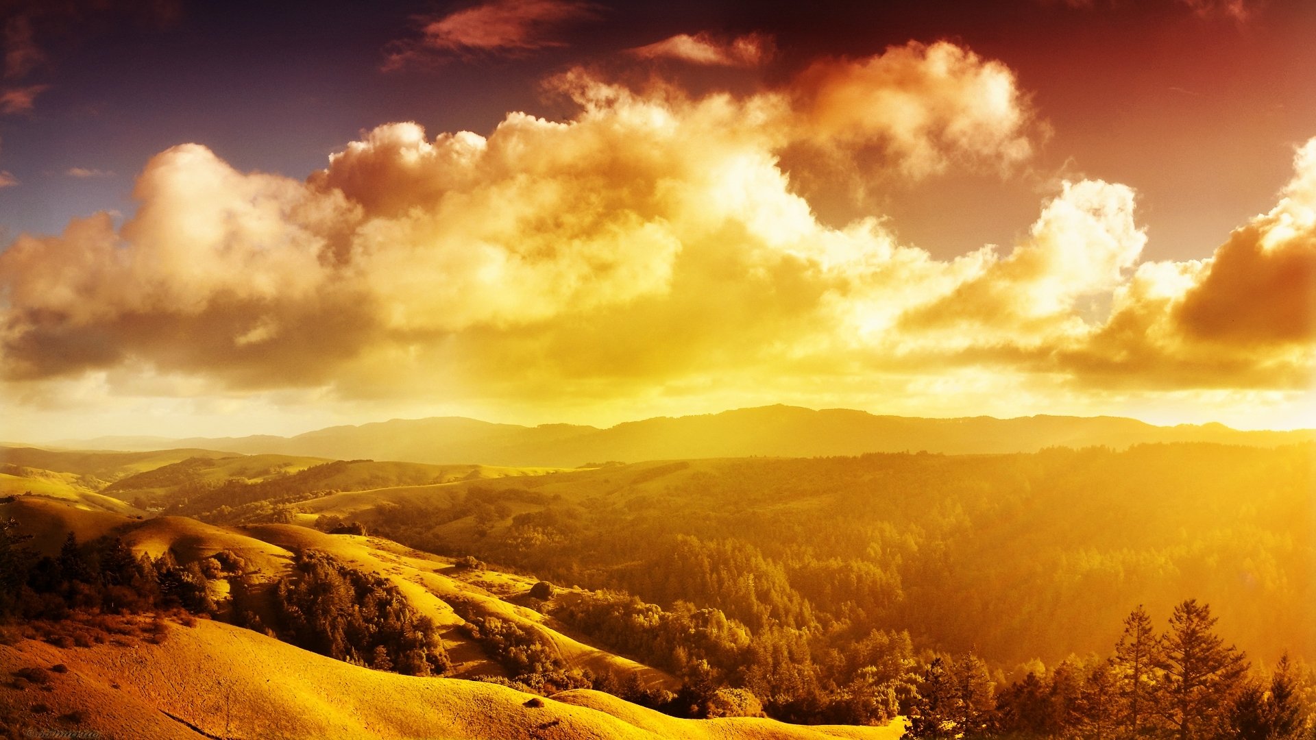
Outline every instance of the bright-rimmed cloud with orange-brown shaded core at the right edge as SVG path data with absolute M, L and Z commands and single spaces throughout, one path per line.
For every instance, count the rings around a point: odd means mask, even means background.
M 1100 384 L 1309 387 L 1316 370 L 1316 138 L 1267 213 L 1209 259 L 1145 262 L 1065 363 Z

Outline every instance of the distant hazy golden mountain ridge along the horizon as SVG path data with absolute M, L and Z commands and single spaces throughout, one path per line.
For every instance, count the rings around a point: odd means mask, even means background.
M 1223 424 L 1157 427 L 1116 416 L 921 419 L 865 411 L 765 406 L 700 416 L 654 417 L 599 429 L 572 424 L 521 427 L 461 416 L 393 419 L 329 427 L 293 437 L 99 437 L 76 449 L 201 448 L 338 460 L 396 460 L 575 467 L 590 462 L 705 457 L 825 457 L 875 452 L 994 454 L 1048 446 L 1126 448 L 1145 442 L 1278 446 L 1316 440 L 1316 429 L 1245 432 Z

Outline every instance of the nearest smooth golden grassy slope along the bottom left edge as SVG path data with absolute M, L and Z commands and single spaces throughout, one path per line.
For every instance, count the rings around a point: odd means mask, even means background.
M 0 645 L 0 670 L 49 669 L 50 687 L 0 685 L 24 729 L 100 736 L 265 739 L 894 739 L 895 728 L 796 727 L 763 719 L 683 720 L 571 691 L 538 699 L 491 683 L 374 672 L 208 620 L 170 625 L 162 644 L 134 639 L 61 649 Z M 30 707 L 46 704 L 46 712 Z M 59 719 L 82 712 L 82 722 Z M 186 724 L 184 724 L 186 723 Z

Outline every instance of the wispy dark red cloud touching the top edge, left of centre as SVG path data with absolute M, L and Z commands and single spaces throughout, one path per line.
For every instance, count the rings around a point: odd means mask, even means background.
M 446 16 L 421 17 L 420 38 L 392 45 L 384 68 L 436 55 L 519 55 L 562 46 L 557 33 L 595 13 L 595 5 L 576 0 L 492 0 Z

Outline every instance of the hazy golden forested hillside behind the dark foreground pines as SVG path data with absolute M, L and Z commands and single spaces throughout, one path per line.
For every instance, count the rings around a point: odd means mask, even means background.
M 751 633 L 873 629 L 1015 669 L 1100 649 L 1125 610 L 1217 604 L 1238 644 L 1316 656 L 1311 445 L 879 454 L 665 466 L 657 479 L 472 483 L 383 503 L 374 532 Z M 653 469 L 636 470 L 637 478 Z

